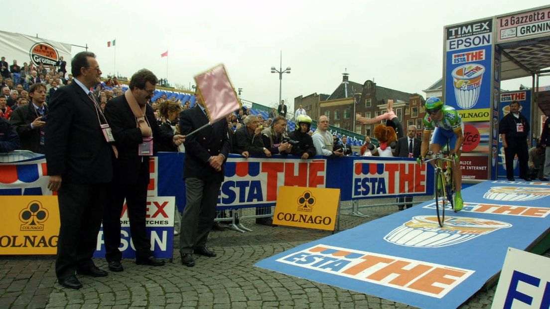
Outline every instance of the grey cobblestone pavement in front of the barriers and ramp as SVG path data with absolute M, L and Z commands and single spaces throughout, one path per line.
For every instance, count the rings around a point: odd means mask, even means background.
M 340 229 L 386 216 L 396 208 L 362 209 L 369 218 L 344 215 Z M 263 258 L 331 233 L 243 221 L 254 231 L 213 231 L 209 246 L 218 256 L 197 256 L 195 267 L 180 264 L 176 243 L 173 263 L 150 267 L 123 260 L 122 273 L 79 276 L 84 284 L 80 290 L 64 289 L 56 282 L 53 256 L 0 256 L 0 308 L 410 308 L 254 267 Z M 95 262 L 107 269 L 104 260 Z M 494 291 L 494 286 L 478 291 L 461 308 L 490 308 Z

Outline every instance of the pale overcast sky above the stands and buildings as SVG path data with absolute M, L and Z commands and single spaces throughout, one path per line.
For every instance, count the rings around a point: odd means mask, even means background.
M 84 3 L 87 5 L 85 6 Z M 330 94 L 342 81 L 422 92 L 442 76 L 443 26 L 547 5 L 510 1 L 12 1 L 2 30 L 88 45 L 103 76 L 140 68 L 189 86 L 193 76 L 224 63 L 242 98 L 278 101 L 279 51 L 283 99 Z M 16 13 L 17 12 L 17 13 Z M 38 13 L 35 13 L 38 12 Z M 36 16 L 25 18 L 25 16 Z M 116 38 L 116 47 L 107 41 Z M 83 50 L 73 47 L 73 54 Z M 8 59 L 10 60 L 10 59 Z M 531 79 L 504 81 L 504 89 Z M 541 86 L 548 85 L 541 79 Z

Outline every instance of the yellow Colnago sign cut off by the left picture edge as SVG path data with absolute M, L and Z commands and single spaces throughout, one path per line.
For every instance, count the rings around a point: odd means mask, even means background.
M 0 196 L 0 205 L 0 255 L 56 254 L 57 196 Z

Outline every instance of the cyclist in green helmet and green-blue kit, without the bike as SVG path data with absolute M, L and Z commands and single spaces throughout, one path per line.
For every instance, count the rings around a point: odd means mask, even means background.
M 430 133 L 433 130 L 433 136 L 430 140 Z M 462 188 L 462 171 L 460 169 L 460 153 L 462 142 L 464 141 L 464 123 L 462 118 L 450 106 L 445 106 L 443 101 L 437 97 L 428 98 L 426 101 L 426 115 L 424 116 L 424 130 L 422 132 L 422 146 L 420 147 L 420 157 L 417 162 L 424 163 L 424 158 L 429 149 L 433 153 L 438 153 L 441 148 L 449 144 L 449 156 L 453 158 L 455 164 L 451 164 L 453 170 L 453 180 L 455 184 L 454 210 L 462 209 L 463 200 L 460 195 Z M 433 161 L 430 163 L 434 163 Z

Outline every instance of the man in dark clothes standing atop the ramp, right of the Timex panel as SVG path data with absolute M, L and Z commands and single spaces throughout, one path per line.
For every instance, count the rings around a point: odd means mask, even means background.
M 504 158 L 506 161 L 506 177 L 509 181 L 514 181 L 514 157 L 518 155 L 520 178 L 525 181 L 531 181 L 529 177 L 529 168 L 527 161 L 527 139 L 529 138 L 529 122 L 524 115 L 519 112 L 520 104 L 518 101 L 510 103 L 510 113 L 500 119 L 498 133 L 504 146 Z

